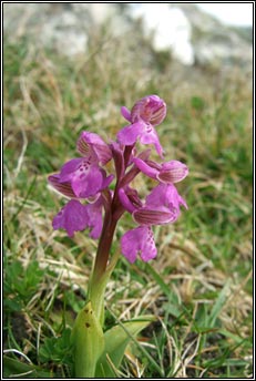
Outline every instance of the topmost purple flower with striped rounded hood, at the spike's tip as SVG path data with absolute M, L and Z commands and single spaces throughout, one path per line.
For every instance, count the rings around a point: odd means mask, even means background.
M 154 126 L 158 125 L 166 115 L 166 104 L 157 95 L 149 95 L 137 101 L 132 111 L 121 109 L 122 115 L 131 122 L 117 133 L 121 144 L 133 145 L 137 138 L 142 144 L 154 144 L 160 156 L 163 148 Z

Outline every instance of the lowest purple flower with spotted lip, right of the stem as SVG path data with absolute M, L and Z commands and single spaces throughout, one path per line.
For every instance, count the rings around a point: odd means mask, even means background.
M 156 257 L 157 250 L 151 226 L 139 226 L 126 231 L 121 238 L 122 254 L 133 264 L 137 254 L 142 260 L 149 261 Z

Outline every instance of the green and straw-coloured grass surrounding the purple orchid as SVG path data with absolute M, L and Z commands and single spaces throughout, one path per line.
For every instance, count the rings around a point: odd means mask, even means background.
M 157 130 L 166 158 L 190 167 L 178 185 L 190 208 L 155 229 L 155 261 L 121 258 L 109 284 L 106 328 L 115 317 L 157 317 L 131 344 L 121 375 L 252 377 L 250 79 L 238 68 L 187 71 L 154 55 L 145 62 L 130 44 L 95 34 L 72 61 L 25 39 L 4 41 L 6 377 L 70 377 L 70 330 L 96 243 L 53 231 L 64 200 L 47 177 L 75 155 L 82 130 L 114 138 L 125 124 L 120 106 L 151 93 L 167 103 Z M 150 185 L 141 176 L 137 184 Z M 130 226 L 125 217 L 116 237 Z

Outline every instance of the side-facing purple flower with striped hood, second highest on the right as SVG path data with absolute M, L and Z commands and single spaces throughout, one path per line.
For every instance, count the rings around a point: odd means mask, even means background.
M 161 183 L 178 183 L 188 174 L 187 166 L 178 161 L 157 164 L 135 157 L 133 162 L 146 176 L 155 178 Z

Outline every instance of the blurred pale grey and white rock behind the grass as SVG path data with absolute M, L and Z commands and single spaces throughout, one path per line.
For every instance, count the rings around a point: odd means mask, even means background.
M 137 43 L 145 39 L 152 51 L 170 51 L 185 65 L 235 64 L 252 70 L 249 33 L 222 24 L 193 3 L 3 4 L 9 40 L 25 35 L 66 55 L 86 52 L 90 39 L 104 25 L 110 37 L 124 39 L 127 47 L 131 39 Z

